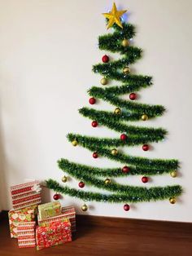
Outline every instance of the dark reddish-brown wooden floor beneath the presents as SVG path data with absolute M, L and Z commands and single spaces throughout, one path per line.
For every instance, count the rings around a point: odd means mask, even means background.
M 7 218 L 0 220 L 0 256 L 191 256 L 192 223 L 77 216 L 71 243 L 49 249 L 19 249 L 10 238 Z

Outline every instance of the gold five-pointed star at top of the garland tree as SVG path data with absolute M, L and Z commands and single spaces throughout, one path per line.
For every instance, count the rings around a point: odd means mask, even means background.
M 117 24 L 123 29 L 123 25 L 120 21 L 120 16 L 124 14 L 127 10 L 117 11 L 116 3 L 113 3 L 112 10 L 109 13 L 103 13 L 103 15 L 108 19 L 107 29 L 111 28 L 113 24 Z

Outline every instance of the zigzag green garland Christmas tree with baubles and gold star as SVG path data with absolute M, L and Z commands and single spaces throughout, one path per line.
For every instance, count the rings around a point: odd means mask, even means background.
M 93 66 L 94 73 L 102 75 L 101 86 L 93 86 L 88 90 L 90 104 L 95 104 L 97 99 L 103 99 L 116 107 L 114 112 L 100 111 L 94 108 L 81 108 L 79 113 L 91 119 L 92 126 L 107 126 L 111 130 L 120 133 L 116 139 L 95 138 L 86 135 L 68 134 L 68 140 L 73 146 L 81 146 L 93 152 L 93 157 L 107 157 L 113 161 L 120 162 L 119 168 L 98 168 L 80 165 L 78 163 L 60 159 L 59 168 L 65 173 L 80 181 L 80 189 L 69 188 L 60 185 L 57 181 L 49 179 L 46 181 L 48 188 L 55 192 L 76 196 L 83 201 L 122 202 L 124 210 L 129 210 L 129 202 L 157 201 L 169 199 L 173 204 L 176 196 L 181 195 L 182 189 L 179 185 L 165 187 L 136 187 L 115 183 L 111 178 L 127 177 L 128 175 L 142 175 L 142 182 L 146 183 L 149 176 L 160 174 L 171 174 L 177 176 L 179 162 L 175 159 L 149 159 L 145 157 L 134 157 L 118 152 L 118 147 L 133 147 L 142 145 L 142 149 L 150 149 L 149 143 L 157 143 L 164 139 L 167 131 L 163 128 L 151 128 L 130 125 L 133 121 L 147 121 L 148 119 L 160 117 L 165 108 L 161 105 L 141 104 L 135 102 L 136 92 L 142 88 L 152 85 L 152 77 L 135 75 L 131 73 L 130 64 L 139 60 L 142 50 L 130 46 L 129 40 L 135 35 L 132 24 L 121 23 L 120 16 L 125 11 L 117 11 L 113 5 L 111 12 L 104 14 L 107 18 L 108 28 L 113 33 L 98 38 L 98 47 L 103 51 L 118 52 L 120 60 L 110 61 L 107 55 L 103 56 L 103 63 Z M 105 86 L 110 80 L 121 82 L 120 86 Z M 129 100 L 122 99 L 121 95 L 129 94 Z M 63 177 L 66 182 L 66 177 Z M 85 192 L 86 184 L 100 188 L 101 192 Z M 111 193 L 103 193 L 103 191 Z M 87 205 L 82 206 L 87 210 Z

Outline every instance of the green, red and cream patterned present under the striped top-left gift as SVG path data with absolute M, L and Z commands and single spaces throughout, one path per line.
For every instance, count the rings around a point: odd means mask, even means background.
M 37 215 L 37 205 L 32 205 L 28 208 L 21 210 L 10 210 L 9 216 L 9 226 L 11 238 L 17 237 L 17 227 L 20 222 L 30 222 L 34 221 Z

